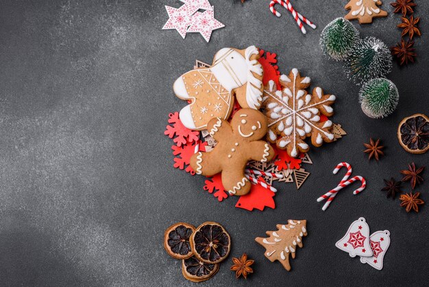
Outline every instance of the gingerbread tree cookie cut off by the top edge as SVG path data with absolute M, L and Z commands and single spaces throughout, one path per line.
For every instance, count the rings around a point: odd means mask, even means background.
M 379 0 L 352 0 L 345 5 L 349 14 L 344 18 L 347 20 L 358 19 L 359 24 L 372 23 L 373 18 L 385 17 L 387 12 L 378 8 L 382 4 Z

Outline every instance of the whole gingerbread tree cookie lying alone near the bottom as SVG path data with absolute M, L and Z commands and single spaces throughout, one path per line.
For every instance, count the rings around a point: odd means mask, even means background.
M 256 238 L 265 247 L 269 261 L 278 260 L 287 271 L 291 271 L 289 255 L 295 258 L 297 246 L 302 248 L 302 238 L 307 236 L 306 220 L 288 220 L 286 225 L 276 225 L 277 231 L 267 231 L 268 238 Z

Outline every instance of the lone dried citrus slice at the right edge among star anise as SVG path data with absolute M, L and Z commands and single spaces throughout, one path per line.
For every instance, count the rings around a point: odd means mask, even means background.
M 397 139 L 404 150 L 412 154 L 422 154 L 429 150 L 429 118 L 416 113 L 402 119 L 397 127 Z

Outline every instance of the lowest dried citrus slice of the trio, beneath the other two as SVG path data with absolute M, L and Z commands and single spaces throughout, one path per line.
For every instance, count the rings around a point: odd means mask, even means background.
M 203 282 L 219 271 L 219 264 L 204 263 L 192 256 L 182 260 L 183 277 L 192 282 Z

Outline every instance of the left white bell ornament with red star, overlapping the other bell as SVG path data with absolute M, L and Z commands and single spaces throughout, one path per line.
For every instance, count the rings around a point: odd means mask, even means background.
M 349 253 L 350 257 L 356 255 L 371 257 L 372 251 L 369 245 L 369 227 L 365 218 L 361 217 L 350 225 L 345 236 L 336 242 L 335 246 Z

